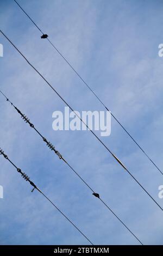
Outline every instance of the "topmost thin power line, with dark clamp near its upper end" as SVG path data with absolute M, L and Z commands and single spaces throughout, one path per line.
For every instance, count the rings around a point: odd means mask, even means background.
M 27 15 L 27 17 L 30 19 L 30 21 L 33 22 L 33 24 L 36 26 L 37 29 L 39 29 L 39 31 L 44 35 L 44 33 L 41 31 L 41 29 L 36 25 L 36 23 L 30 18 L 30 16 L 26 13 L 26 11 L 23 10 L 23 8 L 21 7 L 20 4 L 18 4 L 15 0 L 14 2 L 18 5 L 18 7 L 21 8 L 21 10 L 23 11 L 24 14 Z M 163 175 L 162 171 L 160 170 L 160 168 L 153 162 L 153 160 L 148 156 L 148 154 L 145 152 L 145 150 L 142 149 L 142 147 L 139 145 L 139 143 L 137 143 L 134 139 L 133 136 L 130 135 L 130 133 L 127 131 L 127 129 L 121 124 L 121 122 L 115 117 L 114 114 L 111 113 L 111 111 L 108 109 L 108 107 L 105 106 L 105 104 L 103 103 L 103 101 L 101 99 L 99 99 L 99 97 L 97 96 L 97 94 L 91 89 L 91 87 L 89 86 L 89 84 L 87 84 L 87 82 L 82 78 L 82 76 L 79 75 L 79 73 L 76 71 L 76 69 L 73 68 L 73 66 L 70 64 L 70 62 L 68 62 L 68 60 L 64 57 L 64 55 L 58 50 L 58 48 L 51 42 L 51 40 L 49 40 L 47 38 L 47 36 L 45 37 L 49 43 L 53 46 L 53 48 L 55 49 L 55 51 L 57 51 L 59 53 L 59 55 L 62 57 L 62 59 L 65 60 L 65 62 L 70 66 L 70 68 L 76 73 L 76 75 L 80 78 L 80 80 L 82 80 L 82 82 L 85 84 L 85 86 L 87 88 L 89 88 L 89 90 L 93 93 L 93 95 L 95 95 L 95 97 L 97 98 L 97 100 L 99 102 L 101 102 L 101 104 L 105 107 L 105 109 L 107 111 L 110 112 L 111 116 L 117 121 L 117 123 L 122 127 L 122 129 L 127 133 L 127 135 L 133 140 L 133 142 L 137 145 L 137 147 L 139 147 L 139 149 L 143 152 L 143 154 L 145 154 L 149 161 L 151 161 L 153 163 L 153 165 L 159 170 L 159 172 Z

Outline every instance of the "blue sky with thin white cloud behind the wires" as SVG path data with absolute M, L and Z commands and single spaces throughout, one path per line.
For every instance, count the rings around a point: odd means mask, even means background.
M 162 1 L 18 1 L 109 109 L 162 168 Z M 12 0 L 1 1 L 2 31 L 77 110 L 104 110 Z M 64 103 L 0 35 L 1 89 L 146 245 L 162 244 L 163 213 L 89 131 L 53 131 Z M 9 158 L 94 244 L 137 245 L 133 236 L 0 97 L 1 145 Z M 111 120 L 102 141 L 158 198 L 162 176 Z M 2 157 L 1 245 L 87 244 Z

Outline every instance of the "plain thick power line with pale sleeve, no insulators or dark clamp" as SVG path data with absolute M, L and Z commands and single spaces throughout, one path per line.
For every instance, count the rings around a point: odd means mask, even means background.
M 29 62 L 29 60 L 21 53 L 21 51 L 18 50 L 18 48 L 13 44 L 13 42 L 11 42 L 11 40 L 7 37 L 7 35 L 5 35 L 1 30 L 0 30 L 0 32 L 1 32 L 1 33 L 4 35 L 4 37 L 10 42 L 10 44 L 11 44 L 12 46 L 14 46 L 14 48 L 21 54 L 21 56 L 26 60 L 26 62 L 37 72 L 37 74 L 39 74 L 39 75 L 42 77 L 42 79 L 48 84 L 48 86 L 51 87 L 51 89 L 53 90 L 53 92 L 55 92 L 55 93 L 60 97 L 60 99 L 71 109 L 71 111 L 76 114 L 76 116 L 80 119 L 80 121 L 82 121 L 82 123 L 85 124 L 85 126 L 87 127 L 87 129 L 89 129 L 89 126 L 87 126 L 87 124 L 82 120 L 82 118 L 79 117 L 79 115 L 73 110 L 73 108 L 64 100 L 64 98 L 57 92 L 57 90 L 54 89 L 54 87 L 46 80 L 46 78 L 45 78 L 43 75 L 41 75 L 41 73 Z M 140 182 L 135 179 L 135 177 L 134 177 L 134 176 L 129 172 L 129 170 L 124 166 L 124 164 L 121 162 L 121 160 L 118 159 L 118 157 L 115 156 L 115 155 L 111 152 L 111 150 L 110 150 L 108 147 L 106 147 L 106 145 L 101 141 L 101 139 L 98 138 L 98 136 L 95 134 L 95 132 L 93 132 L 91 129 L 89 129 L 89 130 L 90 130 L 90 132 L 98 139 L 98 141 L 105 147 L 105 149 L 109 151 L 109 153 L 114 157 L 114 159 L 128 172 L 128 174 L 131 176 L 131 178 L 133 178 L 133 179 L 137 182 L 137 184 L 143 189 L 143 191 L 145 191 L 145 192 L 148 194 L 148 196 L 153 200 L 153 202 L 154 202 L 156 205 L 158 205 L 159 208 L 163 211 L 163 209 L 161 208 L 161 206 L 156 202 L 156 200 L 151 196 L 151 194 L 149 194 L 149 193 L 147 192 L 147 190 L 140 184 Z

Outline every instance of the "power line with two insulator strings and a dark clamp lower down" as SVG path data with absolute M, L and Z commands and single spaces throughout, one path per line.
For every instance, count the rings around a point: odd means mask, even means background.
M 33 129 L 39 134 L 39 136 L 43 139 L 44 142 L 46 142 L 48 148 L 50 148 L 51 150 L 53 150 L 53 151 L 55 152 L 55 154 L 57 154 L 57 155 L 59 156 L 59 159 L 62 159 L 62 160 L 73 170 L 73 172 L 80 178 L 80 180 L 82 180 L 82 181 L 84 182 L 84 184 L 93 192 L 93 194 L 97 194 L 97 193 L 95 193 L 95 191 L 93 191 L 93 189 L 90 187 L 90 185 L 88 185 L 87 182 L 76 172 L 76 170 L 74 170 L 74 169 L 71 167 L 71 165 L 65 160 L 65 158 L 62 157 L 62 155 L 59 153 L 59 151 L 55 150 L 55 147 L 52 145 L 52 143 L 51 143 L 51 142 L 48 142 L 47 139 L 46 139 L 45 137 L 43 137 L 43 136 L 41 135 L 41 133 L 35 128 L 35 126 L 34 126 L 32 123 L 30 123 L 29 118 L 27 118 L 26 115 L 22 114 L 22 112 L 20 111 L 20 109 L 18 109 L 18 108 L 9 100 L 9 98 L 8 98 L 1 90 L 0 90 L 0 93 L 5 97 L 5 99 L 6 99 L 8 102 L 10 102 L 11 106 L 16 109 L 16 111 L 21 115 L 21 117 L 23 118 L 23 120 L 24 120 L 26 123 L 28 123 L 29 126 L 30 126 L 31 128 L 33 128 Z M 136 235 L 127 227 L 127 225 L 124 224 L 124 223 L 122 222 L 122 220 L 115 214 L 115 212 L 112 211 L 111 208 L 99 197 L 99 194 L 98 194 L 98 198 L 99 198 L 99 199 L 101 200 L 101 202 L 106 206 L 106 208 L 108 208 L 108 209 L 112 212 L 112 214 L 114 214 L 114 216 L 124 225 L 124 227 L 126 227 L 127 230 L 137 239 L 137 241 L 139 241 L 139 242 L 141 243 L 141 245 L 143 245 L 142 242 L 136 237 Z

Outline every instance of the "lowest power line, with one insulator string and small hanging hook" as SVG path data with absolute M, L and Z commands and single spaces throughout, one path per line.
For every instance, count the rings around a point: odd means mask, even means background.
M 59 212 L 62 216 L 64 216 L 66 218 L 66 220 L 68 222 L 70 222 L 73 227 L 75 227 L 79 232 L 80 234 L 82 234 L 87 241 L 89 241 L 91 243 L 91 245 L 93 245 L 93 243 L 90 241 L 90 239 L 84 235 L 84 233 L 58 208 L 58 206 L 56 206 L 52 201 L 51 199 L 49 199 L 35 184 L 33 181 L 30 180 L 30 178 L 27 176 L 26 173 L 23 173 L 22 170 L 20 168 L 17 168 L 17 166 L 9 159 L 9 157 L 7 155 L 4 154 L 4 151 L 0 148 L 0 155 L 3 155 L 5 159 L 7 159 L 11 164 L 12 166 L 14 166 L 16 169 L 17 169 L 17 172 L 20 173 L 22 175 L 22 178 L 24 178 L 24 180 L 28 181 L 30 183 L 30 185 L 33 186 L 33 190 L 32 192 L 36 189 L 37 191 L 39 191 L 43 197 L 45 197 Z

